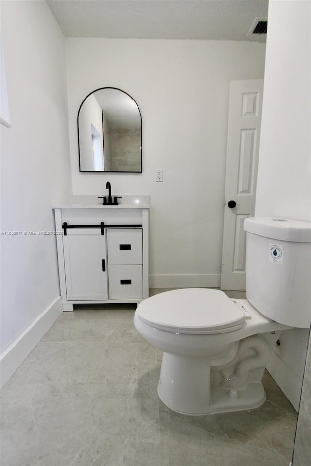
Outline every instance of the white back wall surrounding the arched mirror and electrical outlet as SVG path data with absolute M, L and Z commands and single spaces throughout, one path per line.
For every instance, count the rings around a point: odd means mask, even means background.
M 73 194 L 106 194 L 107 180 L 150 194 L 151 286 L 219 286 L 229 83 L 263 77 L 265 45 L 70 38 L 66 50 Z M 79 173 L 77 112 L 105 86 L 138 103 L 142 174 Z

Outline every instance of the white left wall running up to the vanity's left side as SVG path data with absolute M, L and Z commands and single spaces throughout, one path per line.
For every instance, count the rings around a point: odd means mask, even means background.
M 54 231 L 51 206 L 71 193 L 64 36 L 43 1 L 1 2 L 1 32 L 1 231 Z M 59 295 L 55 236 L 1 234 L 1 350 Z

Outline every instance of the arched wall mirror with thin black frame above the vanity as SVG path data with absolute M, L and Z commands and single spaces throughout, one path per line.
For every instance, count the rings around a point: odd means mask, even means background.
M 78 112 L 80 171 L 141 173 L 141 114 L 126 92 L 103 87 Z

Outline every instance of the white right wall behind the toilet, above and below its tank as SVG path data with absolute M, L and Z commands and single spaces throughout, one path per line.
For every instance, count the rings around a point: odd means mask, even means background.
M 255 216 L 311 221 L 310 43 L 310 2 L 269 1 Z M 268 366 L 296 409 L 308 333 L 284 332 Z

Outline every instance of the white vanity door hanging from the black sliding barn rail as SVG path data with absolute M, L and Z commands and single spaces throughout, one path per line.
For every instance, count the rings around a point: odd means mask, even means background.
M 100 228 L 70 228 L 63 244 L 67 300 L 107 300 L 106 237 Z

